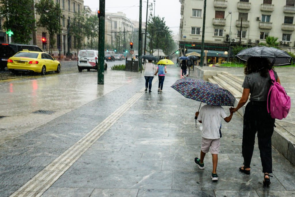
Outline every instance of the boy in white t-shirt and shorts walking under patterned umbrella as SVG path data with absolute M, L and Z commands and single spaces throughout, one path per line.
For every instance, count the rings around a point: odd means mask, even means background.
M 204 169 L 204 157 L 207 152 L 209 152 L 209 148 L 211 148 L 212 154 L 212 163 L 213 163 L 213 171 L 212 171 L 212 180 L 217 181 L 218 175 L 216 173 L 217 161 L 218 161 L 218 153 L 220 147 L 220 137 L 221 137 L 221 118 L 224 119 L 225 122 L 230 122 L 232 119 L 233 113 L 230 113 L 230 116 L 227 117 L 224 109 L 221 106 L 213 106 L 213 105 L 204 105 L 200 112 L 196 112 L 196 116 L 198 117 L 198 121 L 203 124 L 202 129 L 202 147 L 201 147 L 201 158 L 195 158 L 195 164 L 199 166 L 200 169 Z

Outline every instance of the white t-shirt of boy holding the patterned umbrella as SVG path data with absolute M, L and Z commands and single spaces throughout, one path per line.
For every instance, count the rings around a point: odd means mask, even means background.
M 221 118 L 226 118 L 224 109 L 221 106 L 204 105 L 200 109 L 198 121 L 202 121 L 202 137 L 206 139 L 219 139 Z

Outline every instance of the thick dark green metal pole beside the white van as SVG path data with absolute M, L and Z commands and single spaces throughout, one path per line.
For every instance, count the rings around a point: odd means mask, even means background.
M 104 17 L 105 17 L 105 0 L 99 0 L 99 32 L 98 32 L 98 68 L 97 84 L 104 84 Z

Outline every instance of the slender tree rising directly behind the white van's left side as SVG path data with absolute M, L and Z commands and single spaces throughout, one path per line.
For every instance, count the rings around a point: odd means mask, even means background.
M 85 13 L 75 12 L 70 25 L 70 34 L 75 35 L 77 52 L 82 48 L 82 40 L 85 38 Z

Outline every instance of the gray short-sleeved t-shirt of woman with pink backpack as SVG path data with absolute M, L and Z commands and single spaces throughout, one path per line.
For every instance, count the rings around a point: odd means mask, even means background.
M 278 74 L 273 71 L 276 80 L 278 79 Z M 259 72 L 247 74 L 242 85 L 243 88 L 250 89 L 250 100 L 253 101 L 267 101 L 268 90 L 271 87 L 269 80 L 271 77 L 260 76 Z

